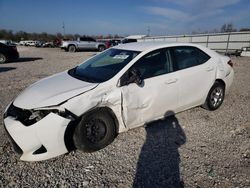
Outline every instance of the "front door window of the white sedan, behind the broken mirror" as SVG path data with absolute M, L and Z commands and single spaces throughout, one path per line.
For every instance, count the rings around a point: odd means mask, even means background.
M 170 52 L 167 49 L 150 52 L 139 59 L 132 67 L 140 72 L 142 79 L 155 77 L 173 71 Z

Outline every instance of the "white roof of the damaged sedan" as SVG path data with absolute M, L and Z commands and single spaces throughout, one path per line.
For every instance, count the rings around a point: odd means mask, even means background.
M 142 42 L 132 42 L 126 44 L 119 44 L 113 48 L 122 49 L 122 50 L 132 50 L 132 51 L 146 51 L 153 50 L 158 48 L 165 47 L 174 47 L 174 46 L 199 46 L 193 43 L 178 43 L 178 42 L 166 42 L 166 41 L 142 41 Z

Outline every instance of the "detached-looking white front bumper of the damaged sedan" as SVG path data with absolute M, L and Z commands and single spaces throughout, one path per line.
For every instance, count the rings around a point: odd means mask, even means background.
M 55 113 L 29 126 L 11 116 L 4 118 L 12 145 L 24 161 L 46 160 L 67 153 L 64 135 L 69 122 L 70 119 Z

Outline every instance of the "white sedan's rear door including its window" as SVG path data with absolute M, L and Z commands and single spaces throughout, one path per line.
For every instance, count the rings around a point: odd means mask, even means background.
M 172 54 L 180 84 L 180 110 L 201 105 L 214 83 L 216 67 L 213 59 L 191 46 L 174 47 Z

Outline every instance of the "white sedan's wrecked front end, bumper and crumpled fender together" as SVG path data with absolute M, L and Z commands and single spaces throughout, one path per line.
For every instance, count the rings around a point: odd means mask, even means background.
M 120 90 L 101 90 L 91 90 L 52 107 L 26 110 L 13 103 L 9 105 L 4 126 L 20 159 L 40 161 L 67 153 L 73 147 L 73 131 L 80 117 L 97 108 L 109 108 L 116 120 L 117 133 L 126 131 Z

